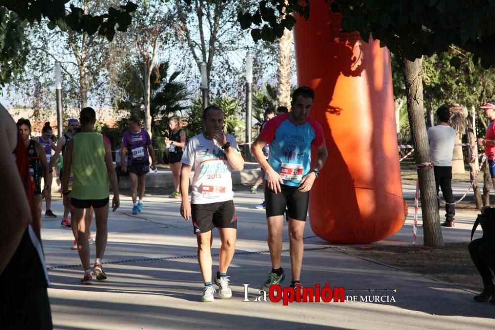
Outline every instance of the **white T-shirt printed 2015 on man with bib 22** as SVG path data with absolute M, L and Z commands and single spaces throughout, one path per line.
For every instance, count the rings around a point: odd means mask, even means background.
M 230 148 L 239 152 L 236 138 L 226 134 Z M 232 191 L 232 166 L 222 146 L 216 140 L 208 140 L 203 134 L 193 136 L 182 155 L 182 164 L 194 170 L 192 204 L 209 204 L 234 199 Z

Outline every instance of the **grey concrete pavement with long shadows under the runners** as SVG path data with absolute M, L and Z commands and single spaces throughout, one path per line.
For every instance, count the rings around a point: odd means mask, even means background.
M 49 296 L 55 329 L 495 328 L 495 306 L 475 303 L 471 290 L 348 255 L 342 246 L 314 236 L 309 221 L 304 234 L 302 284 L 331 283 L 332 287 L 345 287 L 347 295 L 357 300 L 370 301 L 378 295 L 379 300 L 389 302 L 294 302 L 284 306 L 282 302 L 243 301 L 243 284 L 249 284 L 248 299 L 254 300 L 271 268 L 264 210 L 254 209 L 261 197 L 248 191 L 236 193 L 238 242 L 229 269 L 234 296 L 209 304 L 198 302 L 203 283 L 196 260 L 196 238 L 192 224 L 179 217 L 180 201 L 166 196 L 146 197 L 143 212 L 132 216 L 130 198 L 122 198 L 121 208 L 109 219 L 104 258 L 108 280 L 93 285 L 79 283 L 83 272 L 77 252 L 70 250 L 71 230 L 59 227 L 60 218 L 44 219 L 42 235 L 52 281 Z M 61 202 L 55 201 L 53 209 L 61 215 Z M 367 245 L 410 244 L 412 210 L 409 214 L 396 235 Z M 469 241 L 474 218 L 457 214 L 459 225 L 443 228 L 444 240 Z M 421 222 L 417 243 L 422 244 Z M 287 230 L 283 248 L 282 266 L 287 275 L 283 284 L 288 286 L 291 266 Z M 94 245 L 91 249 L 94 261 Z M 214 272 L 218 252 L 215 231 Z

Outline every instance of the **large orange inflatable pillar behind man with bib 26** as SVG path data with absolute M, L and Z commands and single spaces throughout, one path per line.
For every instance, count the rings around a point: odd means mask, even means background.
M 297 80 L 315 91 L 310 116 L 328 148 L 310 193 L 311 229 L 332 243 L 385 239 L 404 223 L 389 51 L 342 31 L 324 1 L 311 1 L 309 17 L 294 28 Z

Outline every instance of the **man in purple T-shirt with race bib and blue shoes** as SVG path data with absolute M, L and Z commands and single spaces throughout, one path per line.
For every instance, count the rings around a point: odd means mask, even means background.
M 141 128 L 137 117 L 129 118 L 129 130 L 125 132 L 120 145 L 122 147 L 120 167 L 122 172 L 128 171 L 131 178 L 132 214 L 138 214 L 143 210 L 146 174 L 149 172 L 148 155 L 151 156 L 151 169 L 153 170 L 156 168 L 156 158 L 151 138 L 148 132 Z M 138 186 L 139 202 L 137 201 Z

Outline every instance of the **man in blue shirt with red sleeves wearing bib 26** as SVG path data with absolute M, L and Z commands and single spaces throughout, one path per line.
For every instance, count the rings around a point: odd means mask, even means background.
M 309 87 L 299 87 L 292 96 L 292 111 L 267 122 L 251 147 L 251 153 L 266 172 L 265 188 L 268 247 L 272 271 L 261 290 L 280 284 L 285 274 L 281 267 L 282 230 L 284 212 L 289 210 L 289 237 L 292 265 L 292 287 L 300 285 L 304 225 L 307 217 L 309 191 L 327 160 L 327 147 L 323 129 L 309 118 L 314 92 Z M 270 145 L 268 160 L 262 148 Z M 311 168 L 311 146 L 316 147 L 317 157 Z

